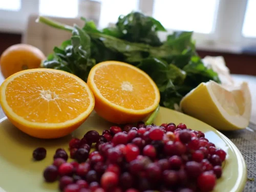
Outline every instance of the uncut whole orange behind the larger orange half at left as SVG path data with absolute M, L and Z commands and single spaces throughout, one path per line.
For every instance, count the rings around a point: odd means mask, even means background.
M 46 56 L 38 48 L 27 44 L 16 44 L 7 48 L 1 55 L 1 72 L 7 78 L 22 70 L 39 68 L 44 59 Z

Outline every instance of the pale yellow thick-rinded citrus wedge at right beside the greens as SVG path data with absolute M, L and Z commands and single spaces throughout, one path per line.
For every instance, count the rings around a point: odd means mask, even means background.
M 246 82 L 227 88 L 209 81 L 189 92 L 180 106 L 184 113 L 216 129 L 244 129 L 250 120 L 251 95 Z

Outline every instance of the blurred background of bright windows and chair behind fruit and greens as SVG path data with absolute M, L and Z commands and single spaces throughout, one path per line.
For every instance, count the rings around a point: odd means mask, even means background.
M 36 23 L 37 15 L 80 26 L 84 16 L 103 28 L 115 24 L 120 14 L 141 11 L 169 33 L 194 31 L 201 57 L 222 55 L 232 74 L 256 75 L 255 10 L 256 0 L 0 0 L 0 55 L 20 42 L 48 54 L 69 38 L 70 33 Z

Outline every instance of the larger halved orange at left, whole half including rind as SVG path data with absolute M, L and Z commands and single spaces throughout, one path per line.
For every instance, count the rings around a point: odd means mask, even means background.
M 86 82 L 53 69 L 15 73 L 3 82 L 0 93 L 3 111 L 18 129 L 47 139 L 73 132 L 95 103 Z

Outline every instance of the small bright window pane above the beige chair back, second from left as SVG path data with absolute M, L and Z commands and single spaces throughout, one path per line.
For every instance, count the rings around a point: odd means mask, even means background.
M 56 17 L 76 17 L 78 0 L 39 0 L 39 13 Z

